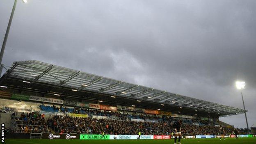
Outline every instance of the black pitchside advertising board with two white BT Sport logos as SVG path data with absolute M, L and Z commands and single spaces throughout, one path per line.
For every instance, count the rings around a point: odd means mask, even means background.
M 43 139 L 79 139 L 79 135 L 43 133 Z

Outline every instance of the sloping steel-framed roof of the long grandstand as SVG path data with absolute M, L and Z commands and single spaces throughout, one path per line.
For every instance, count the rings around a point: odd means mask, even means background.
M 73 89 L 75 91 L 92 91 L 95 94 L 109 94 L 150 103 L 215 112 L 218 113 L 220 117 L 241 114 L 246 111 L 36 60 L 14 62 L 10 69 L 2 76 L 0 83 L 6 78 L 18 78 L 31 83 L 44 83 L 54 85 L 55 87 Z

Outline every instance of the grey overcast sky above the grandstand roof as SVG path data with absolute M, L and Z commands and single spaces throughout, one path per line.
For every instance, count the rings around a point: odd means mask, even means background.
M 0 2 L 0 44 L 14 0 Z M 39 60 L 242 108 L 256 122 L 256 0 L 18 0 L 3 63 Z M 245 128 L 245 115 L 221 118 Z

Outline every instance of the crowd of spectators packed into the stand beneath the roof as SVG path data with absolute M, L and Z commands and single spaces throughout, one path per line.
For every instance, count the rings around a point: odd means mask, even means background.
M 128 114 L 120 112 L 103 112 L 98 110 L 90 110 L 95 115 L 109 116 L 110 114 L 117 117 L 127 117 Z M 159 119 L 155 116 L 139 115 L 142 119 Z M 22 113 L 17 118 L 18 133 L 92 133 L 92 134 L 118 134 L 118 135 L 137 135 L 140 131 L 143 135 L 171 135 L 173 132 L 172 123 L 176 119 L 165 118 L 164 121 L 155 122 L 134 122 L 120 121 L 113 119 L 91 119 L 69 117 L 61 115 L 50 115 L 45 119 L 44 114 Z M 195 122 L 195 121 L 192 121 Z M 206 121 L 201 121 L 206 123 Z M 233 128 L 224 128 L 226 135 L 233 134 Z M 246 129 L 238 129 L 240 134 L 245 134 Z M 183 123 L 181 132 L 184 135 L 219 135 L 219 127 L 215 126 L 195 126 L 190 123 Z

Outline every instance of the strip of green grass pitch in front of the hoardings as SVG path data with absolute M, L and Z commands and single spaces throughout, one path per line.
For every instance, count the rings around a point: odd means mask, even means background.
M 181 139 L 182 144 L 256 144 L 256 137 L 213 139 Z M 80 139 L 6 139 L 5 144 L 174 144 L 174 139 L 80 140 Z

